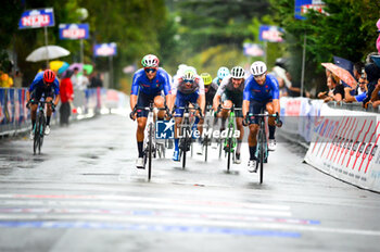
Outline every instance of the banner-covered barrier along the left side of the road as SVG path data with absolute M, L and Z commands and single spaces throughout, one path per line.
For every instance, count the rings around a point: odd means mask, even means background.
M 30 111 L 26 108 L 26 88 L 0 88 L 0 137 L 30 130 Z M 74 93 L 71 122 L 127 106 L 126 94 L 113 89 L 90 88 L 74 90 Z M 59 124 L 60 105 L 52 115 L 51 125 Z

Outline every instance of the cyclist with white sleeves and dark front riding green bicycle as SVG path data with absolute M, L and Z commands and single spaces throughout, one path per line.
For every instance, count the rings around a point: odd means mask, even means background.
M 235 66 L 231 70 L 231 74 L 226 76 L 220 83 L 220 86 L 214 97 L 214 102 L 213 102 L 214 111 L 215 112 L 217 111 L 217 108 L 219 106 L 219 103 L 220 103 L 220 99 L 223 102 L 223 106 L 226 109 L 232 108 L 232 104 L 235 104 L 235 108 L 242 108 L 244 83 L 245 83 L 245 71 L 241 66 Z M 220 131 L 223 131 L 226 128 L 226 119 L 228 117 L 228 112 L 229 112 L 228 110 L 221 110 Z M 235 162 L 237 164 L 240 164 L 241 163 L 240 149 L 241 149 L 241 143 L 244 136 L 243 114 L 241 110 L 236 111 L 235 114 L 236 114 L 237 128 L 240 131 Z

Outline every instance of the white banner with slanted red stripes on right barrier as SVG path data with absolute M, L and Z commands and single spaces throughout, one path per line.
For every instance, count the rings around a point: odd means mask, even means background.
M 324 104 L 305 161 L 333 177 L 380 191 L 380 116 Z

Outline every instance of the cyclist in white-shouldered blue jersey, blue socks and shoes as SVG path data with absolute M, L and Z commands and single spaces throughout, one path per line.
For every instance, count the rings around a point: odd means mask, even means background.
M 174 140 L 174 153 L 173 161 L 179 161 L 179 139 L 178 139 L 178 128 L 180 123 L 182 122 L 183 109 L 178 109 L 179 106 L 186 106 L 188 103 L 197 103 L 201 109 L 202 114 L 204 114 L 204 104 L 205 104 L 205 96 L 204 96 L 204 84 L 203 79 L 197 75 L 193 67 L 188 67 L 181 77 L 174 80 L 173 84 L 173 101 L 175 106 L 177 106 L 175 111 L 175 140 Z M 202 135 L 202 124 L 203 118 L 199 121 L 198 130 Z

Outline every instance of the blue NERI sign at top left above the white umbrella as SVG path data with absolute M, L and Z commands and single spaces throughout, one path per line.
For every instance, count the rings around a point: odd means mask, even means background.
M 25 11 L 18 22 L 18 29 L 45 26 L 54 26 L 54 11 L 52 8 Z

